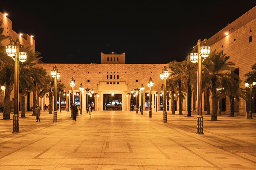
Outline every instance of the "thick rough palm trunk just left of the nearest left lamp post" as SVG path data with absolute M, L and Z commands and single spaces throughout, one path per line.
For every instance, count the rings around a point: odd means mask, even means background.
M 3 119 L 11 119 L 10 118 L 10 96 L 11 96 L 11 85 L 10 85 L 10 82 L 7 81 L 5 83 L 5 98 L 4 98 Z

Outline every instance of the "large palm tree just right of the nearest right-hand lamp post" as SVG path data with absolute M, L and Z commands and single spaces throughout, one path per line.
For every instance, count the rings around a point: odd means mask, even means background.
M 235 63 L 228 61 L 230 56 L 221 55 L 220 52 L 212 52 L 209 57 L 205 59 L 203 65 L 209 72 L 207 78 L 211 82 L 212 92 L 212 114 L 211 120 L 217 121 L 217 95 L 216 88 L 219 87 L 225 78 L 231 78 L 231 71 L 234 71 Z M 230 79 L 231 80 L 231 79 Z

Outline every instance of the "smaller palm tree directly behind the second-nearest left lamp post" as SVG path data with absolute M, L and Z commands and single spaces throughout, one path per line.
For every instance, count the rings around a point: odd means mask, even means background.
M 64 86 L 63 83 L 60 83 L 57 81 L 57 92 L 64 92 L 64 89 L 66 87 Z M 52 113 L 52 96 L 53 96 L 53 92 L 54 92 L 54 78 L 52 78 L 52 76 L 47 75 L 45 80 L 44 80 L 44 84 L 41 84 L 40 87 L 38 87 L 38 89 L 41 89 L 38 96 L 39 97 L 44 97 L 46 95 L 46 97 L 49 96 L 49 114 Z

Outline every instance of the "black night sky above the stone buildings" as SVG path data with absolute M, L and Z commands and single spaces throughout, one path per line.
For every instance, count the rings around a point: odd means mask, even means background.
M 200 3 L 196 3 L 200 2 Z M 17 5 L 19 4 L 19 6 Z M 100 63 L 125 52 L 126 63 L 183 60 L 256 5 L 247 1 L 1 1 L 17 33 L 34 35 L 45 63 Z

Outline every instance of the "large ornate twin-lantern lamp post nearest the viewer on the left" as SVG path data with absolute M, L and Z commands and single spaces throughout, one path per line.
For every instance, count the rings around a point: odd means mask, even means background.
M 13 131 L 12 133 L 19 133 L 19 74 L 20 74 L 20 65 L 19 61 L 24 62 L 27 60 L 27 53 L 23 50 L 20 52 L 19 39 L 16 41 L 10 39 L 10 44 L 6 45 L 6 54 L 9 57 L 14 57 L 15 66 L 14 66 L 14 111 L 13 111 Z M 16 43 L 13 45 L 12 42 Z

